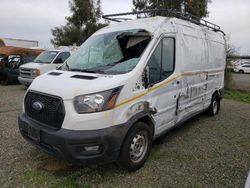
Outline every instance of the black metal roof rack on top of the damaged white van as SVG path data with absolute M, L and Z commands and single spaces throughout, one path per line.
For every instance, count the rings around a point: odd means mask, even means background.
M 173 9 L 150 9 L 150 10 L 144 10 L 144 11 L 125 12 L 125 13 L 118 13 L 118 14 L 107 14 L 107 15 L 103 15 L 102 18 L 109 20 L 109 21 L 122 22 L 123 20 L 124 21 L 131 20 L 131 18 L 121 18 L 120 16 L 136 15 L 137 18 L 140 18 L 140 15 L 148 14 L 148 13 L 152 13 L 152 15 L 155 15 L 155 16 L 157 15 L 157 13 L 164 13 L 164 15 L 167 17 L 180 18 L 182 20 L 186 20 L 186 21 L 192 22 L 194 24 L 201 25 L 201 26 L 207 27 L 209 29 L 212 29 L 215 32 L 221 32 L 223 35 L 225 35 L 225 33 L 220 29 L 220 26 L 218 26 L 214 23 L 211 23 L 207 20 L 201 19 L 197 16 L 194 16 L 192 14 L 189 14 L 186 12 L 178 12 L 178 11 L 173 10 Z

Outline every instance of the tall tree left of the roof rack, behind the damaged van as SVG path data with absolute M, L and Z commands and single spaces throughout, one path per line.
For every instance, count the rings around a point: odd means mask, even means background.
M 51 30 L 54 37 L 51 40 L 53 45 L 81 45 L 95 31 L 106 26 L 100 22 L 100 0 L 71 0 L 69 7 L 72 15 L 66 17 L 66 25 Z

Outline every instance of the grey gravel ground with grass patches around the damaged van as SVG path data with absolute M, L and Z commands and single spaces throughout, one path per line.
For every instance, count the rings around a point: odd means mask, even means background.
M 23 86 L 0 86 L 0 187 L 243 187 L 250 169 L 250 105 L 223 100 L 154 143 L 149 160 L 126 173 L 109 164 L 76 167 L 28 144 L 17 116 Z

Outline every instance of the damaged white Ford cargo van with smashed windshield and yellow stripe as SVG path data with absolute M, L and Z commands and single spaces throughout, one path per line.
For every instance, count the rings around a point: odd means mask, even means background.
M 135 171 L 154 139 L 199 113 L 218 114 L 225 38 L 214 24 L 181 18 L 136 19 L 93 34 L 61 70 L 31 84 L 19 116 L 23 137 L 73 164 Z

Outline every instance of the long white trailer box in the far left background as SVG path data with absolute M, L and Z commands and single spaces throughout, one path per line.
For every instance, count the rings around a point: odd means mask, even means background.
M 13 38 L 0 38 L 0 47 L 14 46 L 20 48 L 34 48 L 38 47 L 38 41 L 35 40 L 23 40 Z

